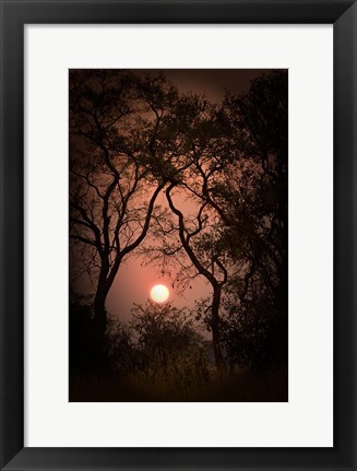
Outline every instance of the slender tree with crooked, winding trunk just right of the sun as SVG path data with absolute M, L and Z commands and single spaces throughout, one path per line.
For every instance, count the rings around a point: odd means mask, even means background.
M 183 285 L 197 275 L 204 276 L 212 287 L 212 299 L 205 310 L 205 325 L 212 331 L 213 350 L 216 366 L 224 366 L 221 333 L 221 301 L 222 292 L 227 283 L 228 272 L 225 251 L 219 245 L 219 214 L 210 201 L 212 181 L 221 178 L 228 153 L 227 121 L 219 107 L 209 104 L 205 99 L 195 97 L 197 107 L 191 115 L 186 139 L 189 143 L 187 165 L 178 179 L 170 180 L 166 189 L 168 207 L 177 223 L 166 221 L 159 223 L 159 232 L 167 238 L 158 249 L 165 267 L 167 257 L 181 264 L 177 281 Z M 175 201 L 175 193 L 182 201 L 189 201 L 191 210 L 181 210 Z M 182 252 L 190 264 L 181 260 Z

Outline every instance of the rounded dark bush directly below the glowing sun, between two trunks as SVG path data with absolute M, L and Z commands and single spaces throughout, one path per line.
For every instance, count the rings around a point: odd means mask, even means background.
M 127 329 L 111 334 L 115 368 L 144 375 L 150 380 L 193 384 L 207 377 L 207 357 L 201 337 L 186 310 L 135 305 Z

